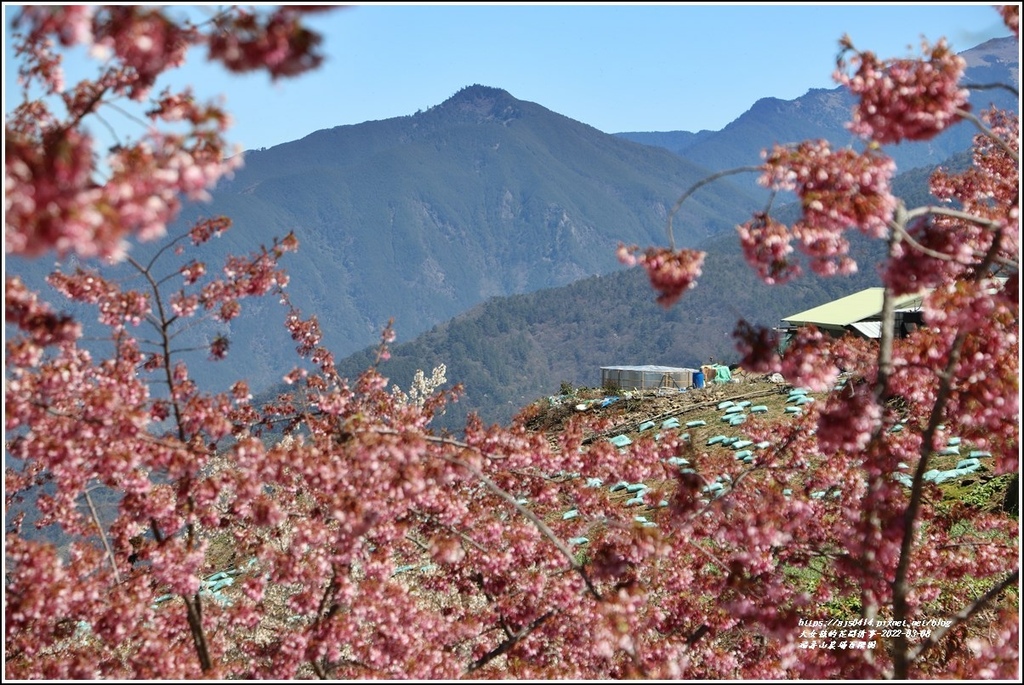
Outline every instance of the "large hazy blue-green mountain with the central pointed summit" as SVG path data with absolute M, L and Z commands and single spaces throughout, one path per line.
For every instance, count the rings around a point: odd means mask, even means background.
M 249 153 L 182 224 L 225 214 L 249 244 L 294 228 L 292 297 L 344 355 L 391 317 L 409 339 L 489 297 L 618 268 L 618 243 L 664 240 L 679 188 L 707 173 L 477 85 L 413 116 Z M 738 186 L 711 189 L 679 240 L 729 229 L 755 204 Z

